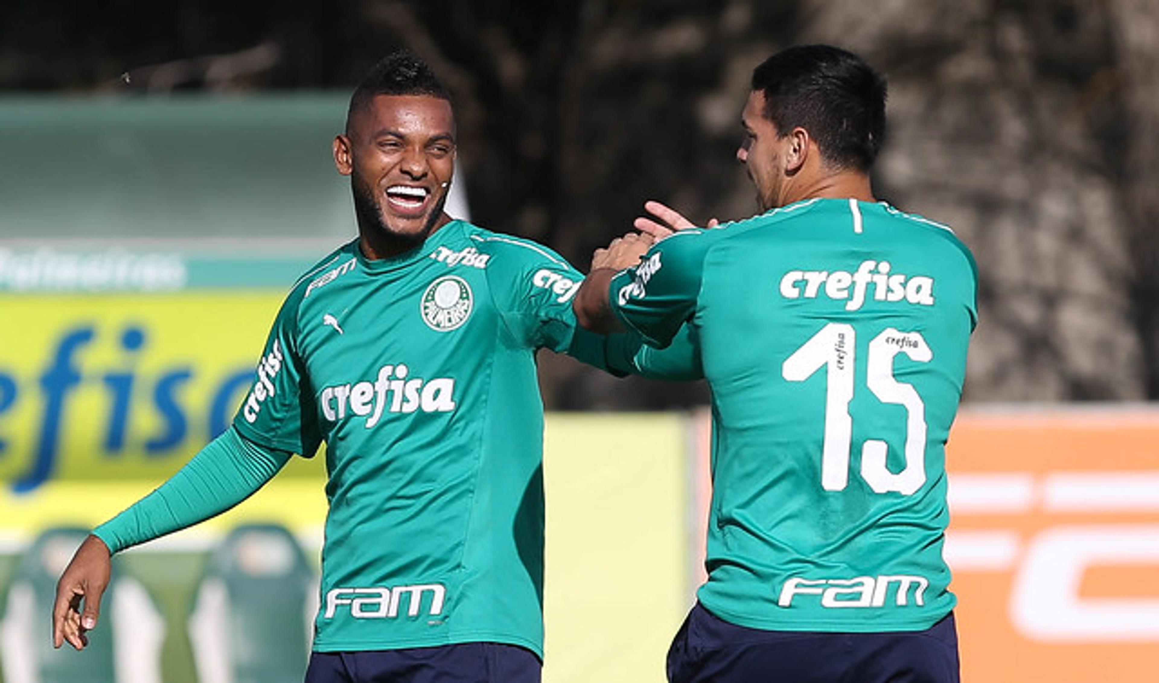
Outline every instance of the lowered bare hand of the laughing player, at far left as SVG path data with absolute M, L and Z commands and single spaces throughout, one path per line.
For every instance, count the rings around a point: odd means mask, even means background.
M 109 548 L 100 538 L 89 535 L 76 548 L 76 554 L 57 582 L 52 647 L 60 647 L 66 640 L 76 649 L 85 649 L 88 645 L 85 633 L 96 627 L 101 596 L 109 586 L 111 566 Z

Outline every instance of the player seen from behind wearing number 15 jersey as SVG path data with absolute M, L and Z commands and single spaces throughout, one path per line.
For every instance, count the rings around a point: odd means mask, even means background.
M 708 580 L 672 683 L 958 680 L 943 449 L 976 270 L 948 227 L 875 201 L 884 111 L 850 52 L 772 56 L 737 151 L 764 212 L 614 240 L 576 296 L 584 326 L 656 347 L 691 325 L 712 388 Z

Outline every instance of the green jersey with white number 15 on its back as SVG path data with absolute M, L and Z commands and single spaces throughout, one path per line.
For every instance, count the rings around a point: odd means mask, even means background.
M 799 202 L 655 245 L 610 286 L 713 395 L 699 598 L 777 631 L 916 631 L 955 604 L 945 445 L 976 322 L 972 256 L 887 204 Z

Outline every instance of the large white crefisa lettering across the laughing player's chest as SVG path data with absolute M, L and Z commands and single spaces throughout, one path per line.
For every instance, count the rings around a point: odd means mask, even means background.
M 338 384 L 322 388 L 319 404 L 322 415 L 331 422 L 348 412 L 366 419 L 366 428 L 378 424 L 382 413 L 450 413 L 454 410 L 454 379 L 437 377 L 418 379 L 407 377 L 410 369 L 403 364 L 382 365 L 374 382 Z M 388 402 L 389 401 L 389 402 Z

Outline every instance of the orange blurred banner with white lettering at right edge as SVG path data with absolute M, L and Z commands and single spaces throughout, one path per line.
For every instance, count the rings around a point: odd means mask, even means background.
M 947 460 L 963 681 L 1159 680 L 1159 409 L 963 410 Z

